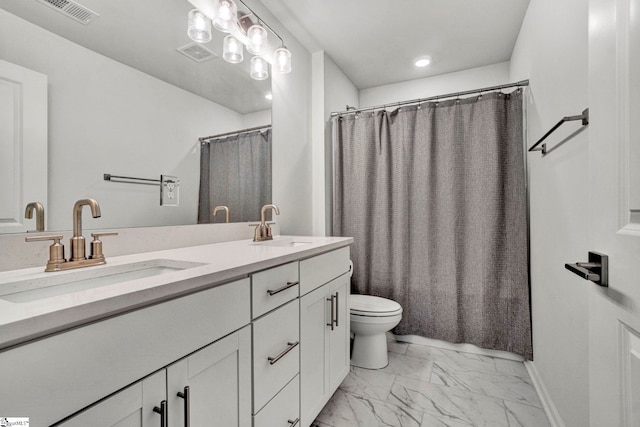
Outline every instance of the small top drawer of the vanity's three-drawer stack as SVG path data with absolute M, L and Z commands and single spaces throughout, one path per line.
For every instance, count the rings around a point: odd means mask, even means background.
M 251 276 L 253 318 L 298 297 L 298 263 L 291 262 Z

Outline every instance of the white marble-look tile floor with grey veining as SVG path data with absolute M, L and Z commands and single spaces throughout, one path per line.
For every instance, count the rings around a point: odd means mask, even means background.
M 389 365 L 351 372 L 313 427 L 550 427 L 522 362 L 389 341 Z

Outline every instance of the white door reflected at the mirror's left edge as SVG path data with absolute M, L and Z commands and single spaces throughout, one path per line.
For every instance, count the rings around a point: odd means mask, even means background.
M 2 60 L 0 183 L 0 233 L 35 230 L 24 216 L 28 203 L 48 207 L 47 76 Z

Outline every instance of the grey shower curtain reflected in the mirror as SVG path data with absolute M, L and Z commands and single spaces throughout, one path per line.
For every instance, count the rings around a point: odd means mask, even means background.
M 198 223 L 225 222 L 216 206 L 227 206 L 231 222 L 257 221 L 271 203 L 271 129 L 201 144 Z

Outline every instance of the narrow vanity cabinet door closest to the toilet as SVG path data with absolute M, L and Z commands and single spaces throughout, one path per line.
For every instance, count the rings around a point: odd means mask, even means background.
M 332 395 L 349 374 L 350 368 L 349 275 L 344 274 L 327 286 L 330 286 L 330 296 L 335 297 L 334 316 L 338 320 L 333 330 L 329 328 L 329 394 Z

